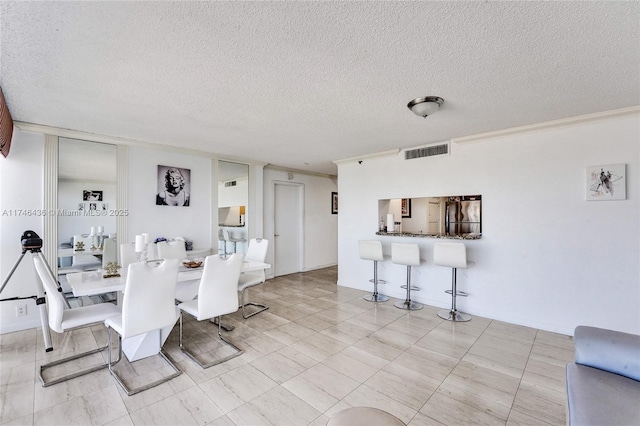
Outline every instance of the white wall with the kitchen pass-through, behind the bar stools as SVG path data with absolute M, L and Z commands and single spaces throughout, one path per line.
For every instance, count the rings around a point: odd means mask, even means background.
M 640 334 L 638 114 L 452 144 L 451 155 L 405 161 L 402 154 L 339 164 L 339 285 L 370 289 L 371 262 L 357 241 L 418 243 L 376 236 L 378 200 L 481 194 L 483 237 L 466 242 L 476 265 L 458 273 L 461 311 L 572 334 L 579 324 Z M 627 199 L 586 201 L 588 166 L 626 163 Z M 381 292 L 404 298 L 406 268 L 382 262 Z M 449 307 L 451 272 L 424 265 L 412 298 Z

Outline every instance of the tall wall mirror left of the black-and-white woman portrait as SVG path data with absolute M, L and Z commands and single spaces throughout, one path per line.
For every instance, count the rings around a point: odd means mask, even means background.
M 116 216 L 110 210 L 116 209 L 116 152 L 115 145 L 59 138 L 59 248 L 73 248 L 74 236 L 89 236 L 92 231 L 98 237 L 92 241 L 98 245 L 115 236 Z M 61 257 L 58 265 L 71 266 L 75 260 Z

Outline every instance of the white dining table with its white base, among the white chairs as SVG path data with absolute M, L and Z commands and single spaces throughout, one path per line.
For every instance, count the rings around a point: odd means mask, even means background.
M 242 273 L 259 271 L 271 268 L 271 265 L 263 262 L 245 260 L 242 263 Z M 202 277 L 204 266 L 198 268 L 187 268 L 180 266 L 178 269 L 178 282 L 198 280 Z M 77 272 L 67 275 L 67 281 L 73 295 L 95 296 L 98 294 L 118 292 L 118 300 L 125 290 L 127 283 L 126 275 L 120 277 L 104 278 L 104 271 Z M 177 309 L 177 307 L 176 307 Z M 167 327 L 162 330 L 155 330 L 149 333 L 130 337 L 122 340 L 122 352 L 131 362 L 156 355 L 160 352 L 162 345 L 169 337 L 171 329 Z

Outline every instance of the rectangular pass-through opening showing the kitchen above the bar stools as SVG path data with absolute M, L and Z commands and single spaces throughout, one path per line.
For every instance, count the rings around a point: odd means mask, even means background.
M 480 238 L 482 196 L 396 198 L 378 201 L 378 231 L 409 236 Z

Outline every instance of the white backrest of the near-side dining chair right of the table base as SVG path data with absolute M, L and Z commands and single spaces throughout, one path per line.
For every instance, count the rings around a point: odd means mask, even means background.
M 198 321 L 238 310 L 238 278 L 244 256 L 207 256 L 198 287 Z

